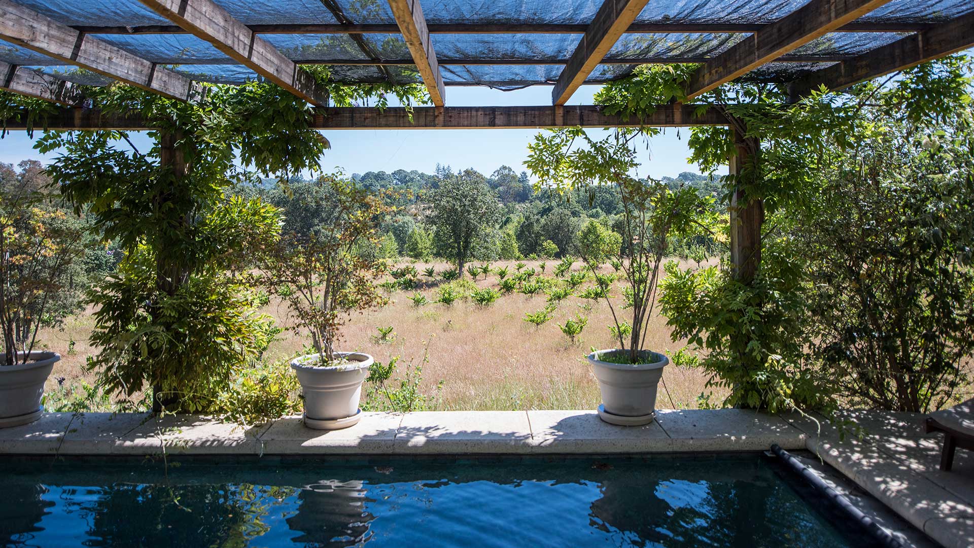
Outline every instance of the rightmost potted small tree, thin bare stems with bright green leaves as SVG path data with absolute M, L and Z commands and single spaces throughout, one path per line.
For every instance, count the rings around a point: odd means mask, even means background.
M 661 181 L 632 175 L 639 166 L 633 139 L 654 133 L 648 128 L 625 128 L 595 140 L 581 128 L 554 130 L 535 138 L 525 163 L 543 187 L 571 190 L 611 184 L 618 189 L 621 241 L 613 231 L 590 222 L 580 234 L 580 254 L 596 272 L 596 284 L 612 311 L 615 326 L 611 331 L 618 337 L 618 348 L 588 355 L 602 392 L 599 416 L 620 425 L 654 420 L 656 386 L 669 363 L 666 356 L 645 347 L 659 266 L 667 238 L 692 233 L 692 227 L 702 220 L 700 212 L 707 211 L 704 199 L 692 188 L 670 188 Z M 621 263 L 627 282 L 622 308 L 631 310 L 631 324 L 619 321 L 609 291 L 612 277 L 597 273 L 612 258 Z

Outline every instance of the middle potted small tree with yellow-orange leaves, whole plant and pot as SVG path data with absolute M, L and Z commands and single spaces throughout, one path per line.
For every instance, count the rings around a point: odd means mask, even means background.
M 317 225 L 306 234 L 284 234 L 264 271 L 272 292 L 287 302 L 290 328 L 311 335 L 314 352 L 291 361 L 301 382 L 305 425 L 335 430 L 360 418 L 361 385 L 373 359 L 339 351 L 339 330 L 353 312 L 385 302 L 375 280 L 386 263 L 367 250 L 380 244 L 379 221 L 391 208 L 341 174 L 317 182 Z

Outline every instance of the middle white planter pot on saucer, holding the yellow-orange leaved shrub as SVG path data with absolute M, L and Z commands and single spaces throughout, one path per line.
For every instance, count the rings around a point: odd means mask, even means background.
M 360 352 L 338 352 L 350 363 L 318 366 L 318 354 L 291 360 L 304 394 L 305 425 L 318 430 L 347 428 L 358 422 L 362 382 L 374 360 Z

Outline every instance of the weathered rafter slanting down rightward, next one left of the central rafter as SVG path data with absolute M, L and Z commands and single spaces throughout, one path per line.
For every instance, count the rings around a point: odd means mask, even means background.
M 212 0 L 140 0 L 149 9 L 206 40 L 214 48 L 244 64 L 281 88 L 319 106 L 328 94 L 315 78 L 256 36 Z

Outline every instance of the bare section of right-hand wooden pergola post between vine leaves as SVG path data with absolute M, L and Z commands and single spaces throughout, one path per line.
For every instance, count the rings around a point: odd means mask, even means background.
M 736 177 L 731 195 L 731 265 L 734 278 L 750 284 L 761 264 L 761 226 L 765 222 L 765 203 L 747 197 L 748 185 L 754 184 L 753 166 L 749 166 L 757 139 L 741 137 L 731 130 L 736 155 L 731 156 L 731 175 Z

